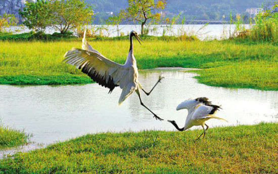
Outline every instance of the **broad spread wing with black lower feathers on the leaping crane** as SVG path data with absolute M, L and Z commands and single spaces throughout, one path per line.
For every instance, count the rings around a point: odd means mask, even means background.
M 129 68 L 107 59 L 99 52 L 92 51 L 91 47 L 86 48 L 90 49 L 90 51 L 81 49 L 67 51 L 63 61 L 81 69 L 83 73 L 94 81 L 109 88 L 110 93 L 115 86 L 120 86 L 122 89 L 130 80 L 133 80 L 129 79 Z

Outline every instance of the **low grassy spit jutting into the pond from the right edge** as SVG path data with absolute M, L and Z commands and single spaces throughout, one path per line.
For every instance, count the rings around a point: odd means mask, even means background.
M 200 83 L 228 88 L 278 91 L 278 66 L 267 61 L 246 61 L 217 68 L 191 70 Z

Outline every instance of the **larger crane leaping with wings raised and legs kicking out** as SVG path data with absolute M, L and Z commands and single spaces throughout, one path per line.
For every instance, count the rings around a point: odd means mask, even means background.
M 85 35 L 86 30 L 84 31 L 82 39 L 82 49 L 73 48 L 72 50 L 67 51 L 64 56 L 64 61 L 70 65 L 74 65 L 78 69 L 81 69 L 83 73 L 87 74 L 91 79 L 100 85 L 109 88 L 110 91 L 108 93 L 111 93 L 116 86 L 119 86 L 122 89 L 122 93 L 119 98 L 118 105 L 121 105 L 122 102 L 133 91 L 135 91 L 140 99 L 141 105 L 154 114 L 156 119 L 163 120 L 146 107 L 141 100 L 139 89 L 142 89 L 144 93 L 149 96 L 163 77 L 159 76 L 157 83 L 149 93 L 142 88 L 140 82 L 138 81 L 138 69 L 133 55 L 132 37 L 134 36 L 140 44 L 140 40 L 143 41 L 137 33 L 135 31 L 131 31 L 129 33 L 130 48 L 124 65 L 107 59 L 100 52 L 93 49 L 85 39 Z

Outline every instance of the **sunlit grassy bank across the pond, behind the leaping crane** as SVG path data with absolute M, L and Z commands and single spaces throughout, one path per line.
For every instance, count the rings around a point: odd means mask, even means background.
M 90 43 L 107 58 L 121 64 L 125 62 L 128 40 L 95 40 Z M 91 82 L 80 70 L 62 62 L 65 52 L 72 47 L 80 48 L 81 41 L 0 41 L 0 47 L 0 84 Z M 201 74 L 200 82 L 276 91 L 277 52 L 275 42 L 147 39 L 142 46 L 134 43 L 134 56 L 139 69 L 169 66 L 207 68 L 198 72 Z M 246 84 L 243 75 L 252 84 Z M 225 81 L 215 81 L 213 78 L 223 78 Z

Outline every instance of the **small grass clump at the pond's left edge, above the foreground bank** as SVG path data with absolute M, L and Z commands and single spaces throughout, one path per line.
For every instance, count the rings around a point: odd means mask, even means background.
M 0 124 L 0 149 L 25 144 L 29 137 L 22 130 L 11 129 Z

